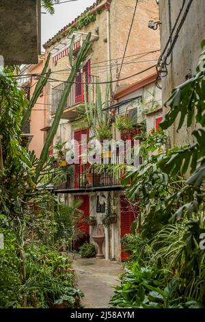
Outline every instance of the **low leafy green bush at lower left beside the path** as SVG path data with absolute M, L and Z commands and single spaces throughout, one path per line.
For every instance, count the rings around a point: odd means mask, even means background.
M 74 287 L 70 258 L 48 247 L 29 247 L 26 252 L 26 282 L 20 288 L 24 306 L 51 308 L 64 304 L 77 308 L 83 293 Z

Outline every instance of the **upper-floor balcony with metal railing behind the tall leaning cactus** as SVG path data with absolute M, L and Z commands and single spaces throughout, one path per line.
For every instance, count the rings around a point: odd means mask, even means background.
M 90 99 L 91 101 L 94 101 L 96 80 L 97 80 L 96 76 L 86 75 L 86 82 L 92 84 L 91 86 L 92 97 L 88 97 L 88 90 L 87 90 L 87 100 Z M 57 111 L 57 106 L 59 104 L 59 100 L 61 99 L 61 95 L 65 87 L 66 87 L 66 82 L 61 83 L 52 89 L 51 114 L 55 114 L 55 112 Z M 76 77 L 74 84 L 72 84 L 70 95 L 68 96 L 68 101 L 64 109 L 64 113 L 61 116 L 61 119 L 74 119 L 77 116 L 76 108 L 84 102 L 85 102 L 85 98 L 84 98 L 84 92 L 83 92 L 83 73 L 79 73 Z

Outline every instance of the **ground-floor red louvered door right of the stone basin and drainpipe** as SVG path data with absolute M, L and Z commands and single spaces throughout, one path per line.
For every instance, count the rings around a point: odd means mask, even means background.
M 125 196 L 120 197 L 120 237 L 131 233 L 131 224 L 137 219 L 137 207 L 131 207 Z M 124 262 L 129 254 L 121 245 L 121 260 Z

